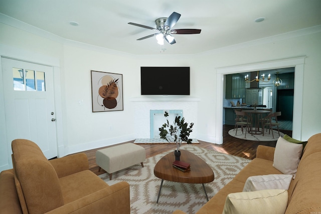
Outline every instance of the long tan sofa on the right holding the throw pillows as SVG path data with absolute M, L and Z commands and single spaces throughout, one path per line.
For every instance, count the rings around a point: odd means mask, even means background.
M 243 191 L 247 178 L 256 175 L 282 174 L 273 166 L 274 147 L 259 145 L 256 158 L 216 193 L 197 214 L 222 213 L 230 193 Z M 283 151 L 286 154 L 288 151 Z M 321 213 L 321 133 L 311 136 L 299 160 L 294 179 L 288 188 L 285 213 Z M 250 207 L 246 207 L 250 209 Z M 173 214 L 185 213 L 176 210 Z M 263 212 L 261 212 L 263 213 Z M 264 212 L 266 213 L 266 212 Z

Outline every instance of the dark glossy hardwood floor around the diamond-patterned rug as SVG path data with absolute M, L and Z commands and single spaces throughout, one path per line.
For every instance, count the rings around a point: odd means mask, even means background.
M 240 156 L 248 159 L 254 159 L 256 157 L 256 149 L 258 145 L 267 145 L 275 147 L 276 141 L 249 141 L 242 140 L 235 137 L 232 137 L 228 134 L 230 129 L 234 128 L 233 125 L 223 125 L 223 144 L 213 144 L 205 141 L 199 140 L 199 144 L 195 144 L 196 146 L 206 148 L 209 150 L 219 151 L 226 154 L 232 154 L 235 156 Z M 289 130 L 280 130 L 284 134 L 292 136 L 292 131 Z M 128 142 L 134 142 L 128 141 Z M 128 143 L 124 142 L 124 143 Z M 146 149 L 146 158 L 152 157 L 157 154 L 161 154 L 163 152 L 174 150 L 176 148 L 176 144 L 139 144 L 140 146 Z M 107 148 L 110 146 L 102 147 Z M 96 164 L 96 151 L 98 149 L 91 149 L 88 151 L 84 151 L 84 153 L 88 157 L 89 161 L 89 169 L 93 171 L 95 174 L 99 175 L 105 173 L 103 169 L 98 172 L 98 165 Z

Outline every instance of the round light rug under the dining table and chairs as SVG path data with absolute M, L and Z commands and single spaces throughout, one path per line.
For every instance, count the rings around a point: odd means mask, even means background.
M 277 130 L 273 130 L 274 138 L 272 136 L 272 132 L 270 132 L 270 134 L 269 134 L 268 130 L 267 130 L 267 132 L 264 132 L 264 136 L 262 134 L 251 135 L 251 133 L 246 133 L 246 138 L 245 138 L 245 128 L 243 131 L 244 131 L 244 133 L 242 134 L 242 129 L 238 128 L 237 135 L 235 135 L 236 129 L 231 129 L 229 131 L 229 135 L 231 135 L 232 137 L 242 139 L 242 140 L 253 140 L 253 141 L 276 141 L 279 138 L 279 134 L 278 134 Z M 280 132 L 280 136 L 283 137 L 284 134 L 282 132 Z

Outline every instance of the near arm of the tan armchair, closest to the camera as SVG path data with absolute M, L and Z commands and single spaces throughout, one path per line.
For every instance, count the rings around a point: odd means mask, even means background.
M 121 181 L 46 213 L 87 214 L 106 212 L 130 213 L 129 184 L 127 182 Z

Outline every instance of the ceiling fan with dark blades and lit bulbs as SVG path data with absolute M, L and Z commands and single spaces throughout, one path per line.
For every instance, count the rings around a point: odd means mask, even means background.
M 175 30 L 172 30 L 172 28 L 177 23 L 177 21 L 180 19 L 180 17 L 181 17 L 181 14 L 173 12 L 173 14 L 171 14 L 171 16 L 169 18 L 165 18 L 165 17 L 158 18 L 155 20 L 156 28 L 152 28 L 152 27 L 148 27 L 148 26 L 144 26 L 144 25 L 140 25 L 140 24 L 136 24 L 136 23 L 131 23 L 131 22 L 128 24 L 138 26 L 141 28 L 150 29 L 150 30 L 157 32 L 155 34 L 151 34 L 149 36 L 142 37 L 137 40 L 144 40 L 144 39 L 156 36 L 158 44 L 163 45 L 164 39 L 165 39 L 168 43 L 173 45 L 176 43 L 176 41 L 175 41 L 172 34 L 200 34 L 201 33 L 200 29 L 175 29 Z M 163 41 L 163 44 L 162 44 L 162 41 Z

